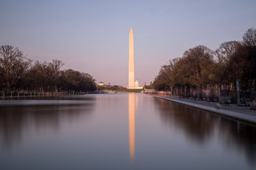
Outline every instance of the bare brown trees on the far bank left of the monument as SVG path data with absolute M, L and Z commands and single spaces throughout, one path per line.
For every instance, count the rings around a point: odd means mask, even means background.
M 17 47 L 2 45 L 0 47 L 0 91 L 1 95 L 68 93 L 68 91 L 94 91 L 95 79 L 90 74 L 73 69 L 61 70 L 64 63 L 33 62 Z

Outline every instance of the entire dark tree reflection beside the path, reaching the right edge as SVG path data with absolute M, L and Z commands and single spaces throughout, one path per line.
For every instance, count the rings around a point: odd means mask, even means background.
M 183 130 L 191 141 L 206 145 L 208 140 L 218 134 L 225 148 L 245 152 L 250 164 L 256 166 L 255 126 L 160 98 L 156 98 L 156 103 L 161 110 L 161 119 Z

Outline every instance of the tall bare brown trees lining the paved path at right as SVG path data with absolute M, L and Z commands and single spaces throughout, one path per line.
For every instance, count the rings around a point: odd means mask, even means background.
M 240 80 L 240 89 L 255 91 L 256 87 L 256 29 L 250 28 L 242 41 L 223 42 L 213 51 L 198 45 L 161 66 L 154 79 L 154 89 L 172 91 L 186 96 L 185 89 L 198 89 L 201 93 L 210 85 L 218 89 L 221 84 L 226 91 L 235 91 L 235 82 Z M 175 92 L 174 92 L 175 91 Z M 213 90 L 212 90 L 213 91 Z M 202 93 L 203 94 L 203 93 Z M 201 95 L 202 96 L 202 95 Z M 253 95 L 250 96 L 252 98 Z M 248 98 L 248 96 L 247 96 Z

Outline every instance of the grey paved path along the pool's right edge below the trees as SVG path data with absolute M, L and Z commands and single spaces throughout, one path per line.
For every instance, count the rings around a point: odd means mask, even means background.
M 230 118 L 243 120 L 247 123 L 252 123 L 256 125 L 256 111 L 251 111 L 249 106 L 237 106 L 235 104 L 230 104 L 229 106 L 221 105 L 220 109 L 217 109 L 215 108 L 216 103 L 214 102 L 195 101 L 187 98 L 174 98 L 169 96 L 153 96 L 163 98 L 168 101 L 174 101 L 176 103 L 181 103 L 194 108 L 200 108 L 205 111 L 218 113 L 220 115 L 225 115 Z

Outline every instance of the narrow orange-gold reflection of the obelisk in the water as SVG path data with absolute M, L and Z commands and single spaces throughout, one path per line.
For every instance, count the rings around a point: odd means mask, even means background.
M 135 94 L 129 93 L 129 153 L 134 162 L 135 152 Z

